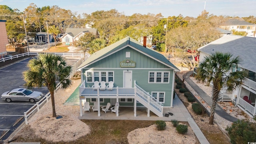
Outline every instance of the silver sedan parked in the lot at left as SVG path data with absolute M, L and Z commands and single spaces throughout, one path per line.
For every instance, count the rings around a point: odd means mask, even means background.
M 4 92 L 1 96 L 2 100 L 6 102 L 12 101 L 27 101 L 37 102 L 43 97 L 42 92 L 32 91 L 26 88 L 15 88 L 11 91 Z

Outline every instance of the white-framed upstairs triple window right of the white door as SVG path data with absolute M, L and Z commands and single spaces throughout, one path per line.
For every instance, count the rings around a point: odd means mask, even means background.
M 169 83 L 170 72 L 148 72 L 148 83 Z

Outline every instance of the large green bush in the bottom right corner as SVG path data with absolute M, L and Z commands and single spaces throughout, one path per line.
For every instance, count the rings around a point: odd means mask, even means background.
M 226 128 L 232 144 L 256 142 L 256 123 L 238 120 Z

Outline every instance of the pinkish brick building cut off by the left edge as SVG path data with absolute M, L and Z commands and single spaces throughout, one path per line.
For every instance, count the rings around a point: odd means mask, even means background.
M 9 43 L 5 22 L 6 20 L 0 20 L 0 58 L 4 58 L 7 54 L 6 45 Z

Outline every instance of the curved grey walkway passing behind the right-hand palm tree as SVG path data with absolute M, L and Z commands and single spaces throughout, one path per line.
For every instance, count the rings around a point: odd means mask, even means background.
M 188 84 L 198 93 L 199 96 L 201 96 L 202 99 L 209 105 L 212 106 L 212 98 L 208 96 L 197 84 L 195 84 L 191 79 L 190 76 L 193 74 L 193 71 L 189 71 L 186 74 L 183 75 L 183 79 L 188 82 Z M 228 113 L 223 110 L 218 103 L 216 104 L 215 113 L 221 116 L 222 118 L 230 121 L 230 122 L 236 122 L 238 119 L 230 116 Z

